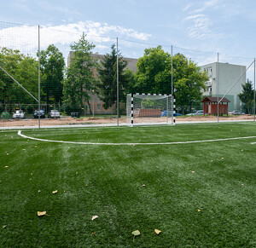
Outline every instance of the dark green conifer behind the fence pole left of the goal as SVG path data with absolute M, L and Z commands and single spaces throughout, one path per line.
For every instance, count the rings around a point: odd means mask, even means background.
M 129 83 L 132 80 L 133 73 L 126 69 L 128 64 L 123 57 L 118 54 L 115 45 L 111 46 L 111 53 L 104 55 L 100 66 L 98 67 L 99 79 L 97 91 L 100 99 L 104 102 L 103 107 L 113 107 L 117 101 L 117 55 L 119 57 L 119 99 L 125 101 Z

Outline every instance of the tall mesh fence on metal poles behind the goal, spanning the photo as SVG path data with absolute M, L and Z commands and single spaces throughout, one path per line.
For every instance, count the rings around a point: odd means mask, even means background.
M 0 128 L 126 124 L 130 93 L 175 94 L 177 124 L 255 120 L 254 75 L 253 58 L 0 22 Z

